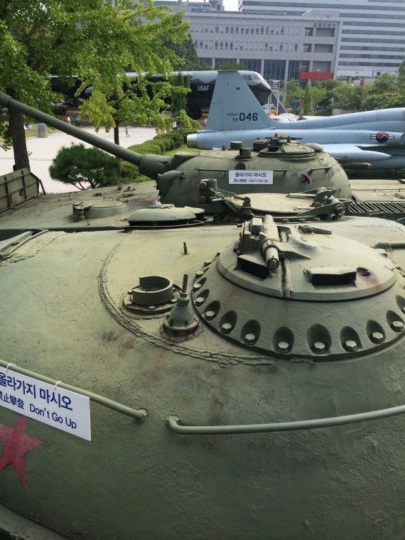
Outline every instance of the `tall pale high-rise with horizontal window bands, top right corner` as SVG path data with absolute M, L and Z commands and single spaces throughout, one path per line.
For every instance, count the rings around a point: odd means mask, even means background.
M 404 0 L 239 0 L 239 11 L 273 16 L 328 16 L 341 21 L 335 77 L 395 73 L 405 59 Z

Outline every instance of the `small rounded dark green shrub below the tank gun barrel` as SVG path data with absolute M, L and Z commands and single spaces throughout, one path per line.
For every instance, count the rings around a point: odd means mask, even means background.
M 98 148 L 72 144 L 60 148 L 49 168 L 50 178 L 84 190 L 117 183 L 119 161 Z

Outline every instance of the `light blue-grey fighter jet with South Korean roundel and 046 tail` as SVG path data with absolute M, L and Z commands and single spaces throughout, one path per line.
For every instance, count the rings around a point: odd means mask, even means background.
M 317 143 L 346 168 L 405 168 L 405 108 L 334 117 L 280 121 L 269 117 L 237 71 L 218 72 L 204 130 L 187 137 L 190 148 L 253 146 L 255 139 L 283 136 Z

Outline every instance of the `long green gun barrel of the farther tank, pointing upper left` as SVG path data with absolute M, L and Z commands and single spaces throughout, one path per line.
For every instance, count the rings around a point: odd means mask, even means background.
M 18 102 L 16 99 L 13 99 L 3 92 L 0 92 L 0 105 L 1 107 L 7 107 L 8 109 L 14 109 L 22 114 L 26 114 L 27 117 L 34 118 L 44 124 L 60 129 L 60 131 L 72 135 L 76 139 L 80 139 L 101 150 L 112 153 L 113 156 L 117 156 L 117 158 L 124 159 L 124 161 L 128 161 L 129 163 L 138 166 L 139 171 L 142 174 L 147 175 L 149 178 L 153 178 L 153 180 L 156 180 L 158 174 L 165 173 L 168 171 L 168 168 L 171 168 L 171 158 L 167 158 L 166 156 L 153 156 L 153 154 L 142 155 L 129 150 L 128 148 L 123 148 L 122 146 L 119 146 L 119 144 L 104 141 L 101 137 L 97 137 L 85 129 L 71 126 L 68 122 Z

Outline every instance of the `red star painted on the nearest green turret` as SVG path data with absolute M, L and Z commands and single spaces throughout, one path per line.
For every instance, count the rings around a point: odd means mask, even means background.
M 25 416 L 20 416 L 13 428 L 0 423 L 0 438 L 4 442 L 3 453 L 0 455 L 0 470 L 13 463 L 18 476 L 21 478 L 21 482 L 23 482 L 25 487 L 28 487 L 24 456 L 30 450 L 43 444 L 44 441 L 26 435 L 24 433 L 25 428 Z

